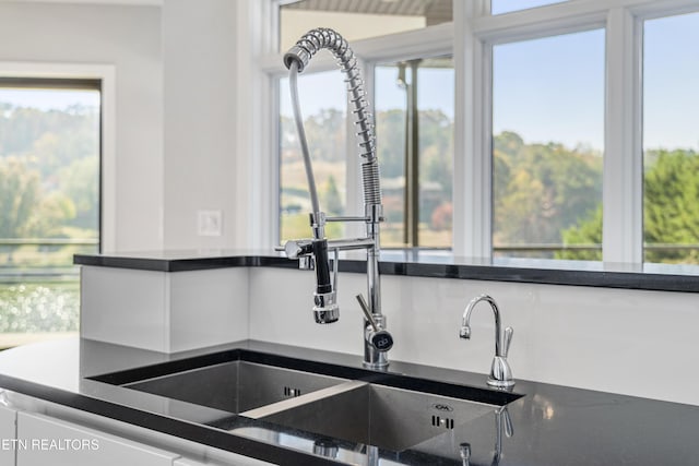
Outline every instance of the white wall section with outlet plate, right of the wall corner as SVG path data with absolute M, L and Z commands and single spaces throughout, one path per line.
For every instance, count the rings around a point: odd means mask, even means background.
M 166 249 L 235 243 L 236 3 L 163 5 Z M 198 211 L 221 211 L 221 236 L 198 236 Z

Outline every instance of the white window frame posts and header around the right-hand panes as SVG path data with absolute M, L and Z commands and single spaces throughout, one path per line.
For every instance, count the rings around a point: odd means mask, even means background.
M 281 1 L 270 0 L 268 12 L 271 16 L 275 16 Z M 493 46 L 604 28 L 603 262 L 640 265 L 643 263 L 642 23 L 650 19 L 696 11 L 699 11 L 696 0 L 617 0 L 613 3 L 606 0 L 568 0 L 491 15 L 490 0 L 454 1 L 452 23 L 357 40 L 352 47 L 362 61 L 371 101 L 376 63 L 453 55 L 457 100 L 454 178 L 459 182 L 453 183 L 452 253 L 455 256 L 490 259 Z M 275 17 L 270 17 L 268 24 L 275 22 Z M 275 37 L 265 40 L 275 44 Z M 312 64 L 312 71 L 335 68 L 329 56 L 315 58 Z M 271 80 L 286 73 L 282 53 L 272 48 L 259 56 L 258 67 Z M 263 89 L 269 101 L 276 98 L 272 87 L 268 85 Z M 272 126 L 261 130 L 259 138 L 275 134 Z M 351 138 L 348 140 L 354 143 Z M 352 150 L 348 154 L 355 152 Z M 271 166 L 274 166 L 277 157 L 275 151 L 271 151 L 268 157 Z M 358 174 L 351 169 L 357 164 L 348 162 L 347 187 L 358 187 Z M 270 188 L 279 191 L 279 177 L 276 181 Z M 358 192 L 348 192 L 347 212 L 359 212 L 359 202 Z M 276 203 L 271 207 L 272 213 L 268 211 L 262 214 L 265 229 L 274 225 L 269 219 L 270 215 L 275 216 L 279 212 Z M 269 235 L 271 242 L 268 246 L 277 239 L 279 232 Z

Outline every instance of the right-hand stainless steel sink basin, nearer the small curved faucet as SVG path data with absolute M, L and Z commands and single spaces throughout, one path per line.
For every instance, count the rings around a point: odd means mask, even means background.
M 360 381 L 346 382 L 242 416 L 402 452 L 498 407 Z M 295 406 L 294 406 L 295 405 Z

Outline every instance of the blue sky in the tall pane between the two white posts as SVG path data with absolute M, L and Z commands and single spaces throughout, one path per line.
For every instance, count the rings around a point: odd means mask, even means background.
M 534 63 L 534 64 L 533 64 Z M 604 146 L 602 29 L 497 45 L 493 130 L 526 142 Z

